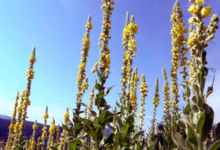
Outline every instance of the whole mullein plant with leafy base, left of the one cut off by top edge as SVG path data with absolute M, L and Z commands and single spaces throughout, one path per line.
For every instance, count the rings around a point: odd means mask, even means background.
M 66 118 L 66 121 L 68 120 L 68 124 L 63 124 L 62 127 L 65 131 L 63 133 L 66 133 L 62 141 L 63 143 L 68 143 L 68 148 L 72 149 L 77 148 L 81 145 L 86 146 L 83 144 L 82 138 L 82 129 L 83 129 L 83 123 L 80 120 L 80 114 L 84 111 L 80 111 L 81 104 L 82 104 L 82 97 L 86 90 L 88 90 L 89 84 L 88 84 L 88 78 L 86 77 L 86 63 L 87 63 L 87 57 L 89 56 L 88 52 L 90 49 L 90 30 L 92 29 L 93 25 L 91 24 L 91 15 L 88 17 L 88 21 L 86 24 L 86 33 L 84 35 L 84 38 L 82 39 L 82 58 L 81 63 L 79 65 L 79 72 L 77 76 L 77 86 L 78 86 L 78 93 L 77 93 L 77 102 L 76 102 L 76 109 L 73 109 L 73 123 L 70 122 L 69 117 Z M 64 117 L 65 118 L 65 117 Z M 61 146 L 61 145 L 60 145 Z M 65 145 L 64 145 L 65 146 Z

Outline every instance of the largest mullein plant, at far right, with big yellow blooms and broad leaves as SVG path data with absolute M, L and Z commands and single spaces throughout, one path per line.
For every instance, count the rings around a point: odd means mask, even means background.
M 217 23 L 219 17 L 214 14 L 211 17 L 208 28 L 204 26 L 203 19 L 211 15 L 212 7 L 204 6 L 204 0 L 190 0 L 192 3 L 188 11 L 192 14 L 189 19 L 189 39 L 188 47 L 190 48 L 190 70 L 191 78 L 189 79 L 190 89 L 192 90 L 192 99 L 187 103 L 183 110 L 183 120 L 179 125 L 185 130 L 186 140 L 179 134 L 173 132 L 173 140 L 180 149 L 190 150 L 216 150 L 220 147 L 219 133 L 216 133 L 214 140 L 208 138 L 212 129 L 214 111 L 207 104 L 208 96 L 213 92 L 213 85 L 208 87 L 204 94 L 208 68 L 205 65 L 207 52 L 205 48 L 207 42 L 214 38 L 214 33 L 218 29 Z M 190 96 L 191 91 L 188 90 Z

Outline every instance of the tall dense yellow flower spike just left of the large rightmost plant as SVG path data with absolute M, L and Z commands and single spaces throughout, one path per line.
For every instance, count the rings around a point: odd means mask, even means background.
M 172 99 L 173 99 L 173 116 L 175 118 L 175 121 L 177 119 L 180 119 L 180 115 L 178 114 L 178 83 L 177 83 L 177 72 L 179 68 L 179 60 L 181 58 L 181 64 L 180 66 L 183 67 L 184 71 L 181 72 L 183 74 L 184 79 L 186 79 L 186 60 L 187 58 L 184 57 L 184 55 L 187 53 L 188 48 L 185 48 L 183 45 L 187 42 L 187 39 L 185 39 L 184 33 L 187 33 L 187 29 L 184 29 L 185 23 L 183 22 L 183 14 L 182 10 L 180 8 L 180 4 L 178 1 L 175 2 L 173 7 L 173 14 L 171 16 L 171 22 L 172 22 L 172 69 L 171 69 L 171 77 L 172 77 L 172 85 L 170 87 L 170 91 L 172 91 Z M 185 81 L 186 82 L 186 81 Z

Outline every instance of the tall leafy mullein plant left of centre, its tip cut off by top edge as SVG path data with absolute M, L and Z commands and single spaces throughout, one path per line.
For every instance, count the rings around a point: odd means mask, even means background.
M 99 38 L 100 41 L 98 46 L 101 47 L 100 49 L 100 57 L 99 62 L 95 63 L 94 68 L 92 69 L 92 73 L 97 72 L 99 77 L 99 82 L 96 80 L 95 89 L 98 90 L 97 94 L 95 95 L 95 105 L 97 106 L 98 112 L 96 113 L 92 109 L 90 109 L 86 104 L 82 103 L 85 107 L 87 107 L 92 117 L 90 119 L 80 118 L 83 122 L 83 130 L 86 132 L 87 136 L 91 137 L 91 142 L 94 143 L 93 149 L 98 150 L 101 148 L 111 148 L 111 144 L 113 142 L 113 136 L 110 135 L 106 141 L 104 141 L 104 129 L 107 124 L 113 121 L 114 114 L 108 109 L 110 108 L 107 105 L 106 100 L 104 97 L 109 93 L 112 89 L 107 88 L 105 89 L 104 84 L 109 77 L 109 70 L 110 70 L 110 49 L 108 49 L 108 41 L 111 39 L 110 29 L 111 29 L 111 21 L 110 16 L 112 15 L 112 10 L 114 8 L 114 1 L 112 0 L 103 0 L 104 4 L 101 6 L 101 9 L 104 10 L 103 14 L 103 25 L 102 25 L 102 32 L 101 37 Z M 110 139 L 110 140 L 109 140 Z

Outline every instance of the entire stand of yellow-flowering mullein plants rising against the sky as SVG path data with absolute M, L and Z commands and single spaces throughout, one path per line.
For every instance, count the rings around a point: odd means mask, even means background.
M 127 12 L 125 16 L 122 45 L 124 55 L 121 67 L 121 91 L 120 99 L 115 106 L 110 106 L 107 95 L 111 94 L 111 87 L 106 87 L 111 72 L 110 57 L 111 47 L 109 43 L 114 38 L 110 34 L 112 29 L 111 16 L 113 14 L 113 0 L 102 0 L 103 20 L 97 46 L 99 61 L 94 64 L 91 73 L 95 75 L 95 85 L 92 86 L 89 100 L 83 96 L 88 91 L 88 70 L 86 71 L 87 58 L 90 50 L 90 31 L 93 29 L 92 16 L 88 16 L 85 25 L 85 33 L 82 39 L 81 63 L 77 74 L 76 107 L 68 107 L 64 114 L 64 122 L 55 125 L 53 118 L 50 127 L 47 121 L 50 116 L 48 107 L 45 106 L 44 127 L 41 137 L 36 138 L 38 130 L 37 120 L 33 125 L 32 136 L 25 137 L 25 121 L 27 109 L 31 105 L 31 85 L 35 76 L 34 64 L 37 62 L 37 49 L 34 47 L 29 57 L 29 68 L 26 73 L 27 87 L 21 93 L 17 93 L 12 113 L 11 124 L 7 143 L 1 150 L 217 150 L 220 148 L 220 123 L 214 128 L 214 110 L 208 104 L 209 96 L 214 92 L 213 83 L 208 89 L 205 83 L 208 74 L 214 73 L 214 68 L 208 68 L 205 49 L 209 42 L 215 38 L 218 30 L 219 17 L 212 14 L 212 6 L 209 1 L 189 0 L 188 18 L 189 28 L 183 22 L 181 5 L 176 0 L 173 5 L 170 21 L 172 29 L 172 60 L 171 70 L 161 68 L 163 74 L 163 89 L 159 89 L 159 79 L 155 77 L 154 97 L 148 104 L 154 107 L 153 118 L 149 131 L 143 126 L 145 114 L 145 99 L 148 97 L 148 81 L 145 74 L 139 75 L 138 66 L 134 66 L 134 57 L 138 51 L 136 46 L 136 34 L 139 33 L 135 16 Z M 213 6 L 215 7 L 215 6 Z M 186 10 L 187 11 L 187 10 Z M 204 19 L 211 17 L 206 26 Z M 169 20 L 168 20 L 169 21 Z M 141 32 L 140 32 L 141 34 Z M 185 35 L 188 34 L 188 37 Z M 219 34 L 219 33 L 218 33 Z M 83 34 L 82 34 L 83 35 Z M 219 43 L 215 43 L 219 45 Z M 189 54 L 190 57 L 187 56 Z M 180 72 L 180 73 L 179 73 Z M 214 78 L 214 77 L 213 77 Z M 168 82 L 171 79 L 171 83 Z M 181 79 L 181 82 L 178 80 Z M 93 80 L 93 79 L 90 79 Z M 118 81 L 119 82 L 119 81 Z M 213 79 L 214 82 L 214 79 Z M 33 82 L 34 84 L 34 82 Z M 182 87 L 183 94 L 179 92 Z M 163 95 L 159 91 L 163 91 Z M 138 98 L 138 93 L 141 97 Z M 161 99 L 164 100 L 164 123 L 156 126 L 157 109 Z M 179 101 L 183 99 L 186 106 L 180 112 Z M 89 102 L 88 102 L 89 101 Z M 87 103 L 88 102 L 88 103 Z M 82 109 L 85 108 L 85 109 Z M 140 109 L 138 109 L 140 107 Z M 97 111 L 96 111 L 97 110 Z M 72 112 L 72 118 L 70 113 Z M 137 119 L 140 123 L 137 123 Z M 60 127 L 63 129 L 60 130 Z M 108 128 L 111 133 L 105 135 Z M 155 133 L 160 137 L 155 137 Z M 147 137 L 145 137 L 145 134 Z

